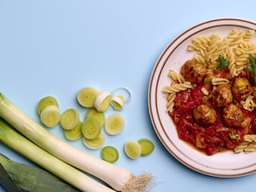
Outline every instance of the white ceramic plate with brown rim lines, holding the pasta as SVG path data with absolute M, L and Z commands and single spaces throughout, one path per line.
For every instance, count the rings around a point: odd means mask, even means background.
M 256 172 L 256 153 L 234 154 L 232 151 L 207 156 L 188 146 L 178 138 L 176 128 L 166 112 L 166 99 L 162 87 L 170 84 L 168 71 L 179 71 L 186 60 L 193 58 L 187 46 L 195 36 L 219 34 L 224 37 L 232 29 L 254 29 L 256 23 L 240 18 L 218 18 L 190 27 L 170 42 L 158 58 L 149 85 L 149 110 L 154 130 L 166 150 L 179 162 L 202 174 L 216 177 L 239 177 Z M 256 42 L 255 38 L 252 41 Z

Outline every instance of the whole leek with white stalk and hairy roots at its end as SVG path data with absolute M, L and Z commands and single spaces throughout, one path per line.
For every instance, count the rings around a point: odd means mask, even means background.
M 135 176 L 125 167 L 116 166 L 103 161 L 82 150 L 70 146 L 61 139 L 50 134 L 48 130 L 40 126 L 22 110 L 14 106 L 3 94 L 0 93 L 0 117 L 9 122 L 11 126 L 24 134 L 31 141 L 50 154 L 62 159 L 78 169 L 101 179 L 118 191 L 144 191 L 153 178 L 152 174 Z M 93 190 L 92 190 L 93 191 Z M 104 190 L 102 190 L 104 191 Z

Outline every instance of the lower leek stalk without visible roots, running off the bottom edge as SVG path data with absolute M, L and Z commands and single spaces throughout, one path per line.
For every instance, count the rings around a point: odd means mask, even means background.
M 109 187 L 83 174 L 80 170 L 42 150 L 42 148 L 22 136 L 22 134 L 7 126 L 1 119 L 0 141 L 79 190 L 87 192 L 114 192 Z

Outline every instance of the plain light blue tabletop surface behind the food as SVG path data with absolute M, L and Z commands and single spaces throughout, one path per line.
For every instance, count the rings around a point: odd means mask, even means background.
M 125 86 L 132 93 L 122 111 L 126 128 L 106 140 L 120 152 L 116 164 L 134 174 L 153 173 L 158 183 L 155 192 L 254 190 L 255 174 L 213 178 L 173 158 L 154 133 L 147 90 L 158 56 L 183 30 L 211 18 L 254 21 L 255 13 L 253 0 L 0 0 L 0 91 L 38 121 L 35 109 L 43 96 L 54 95 L 62 111 L 75 107 L 82 117 L 86 110 L 75 101 L 82 87 L 111 91 Z M 65 139 L 60 127 L 50 131 Z M 142 137 L 154 141 L 154 153 L 137 160 L 126 158 L 124 142 Z M 99 157 L 99 150 L 87 150 L 81 140 L 70 144 Z M 30 163 L 5 146 L 0 145 L 0 152 Z

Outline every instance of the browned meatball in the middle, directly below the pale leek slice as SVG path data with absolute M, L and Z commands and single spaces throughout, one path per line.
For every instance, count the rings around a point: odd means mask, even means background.
M 211 94 L 213 98 L 213 104 L 217 107 L 226 106 L 233 101 L 233 94 L 230 84 L 221 84 L 215 86 Z

